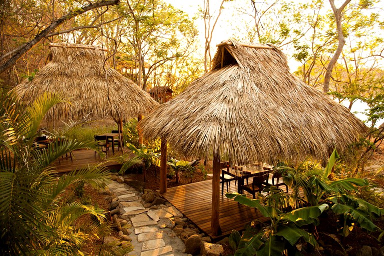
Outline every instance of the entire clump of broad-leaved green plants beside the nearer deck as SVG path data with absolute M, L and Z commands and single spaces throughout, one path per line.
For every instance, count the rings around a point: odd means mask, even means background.
M 384 233 L 373 223 L 374 218 L 383 216 L 384 209 L 352 195 L 368 185 L 366 179 L 328 179 L 337 159 L 338 154 L 334 150 L 325 168 L 307 163 L 301 163 L 297 168 L 276 167 L 283 171 L 283 180 L 292 189 L 290 194 L 272 185 L 267 186 L 263 190 L 267 194 L 259 194 L 258 199 L 227 193 L 228 198 L 257 208 L 270 221 L 270 225 L 256 233 L 250 234 L 251 229 L 246 230 L 240 239 L 240 234 L 233 231 L 230 245 L 236 248 L 235 255 L 281 255 L 283 250 L 288 254 L 301 255 L 298 248 L 304 243 L 311 245 L 308 249 L 315 249 L 318 246 L 316 239 L 308 230 L 319 224 L 318 217 L 327 210 L 338 215 L 341 224 L 338 231 L 343 236 L 347 236 L 356 225 L 368 231 Z M 298 191 L 304 195 L 301 197 Z M 293 209 L 292 205 L 295 206 Z

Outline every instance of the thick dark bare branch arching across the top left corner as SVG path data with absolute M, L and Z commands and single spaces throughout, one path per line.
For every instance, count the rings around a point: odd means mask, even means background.
M 22 45 L 21 47 L 19 47 L 16 52 L 9 54 L 9 55 L 12 55 L 12 57 L 0 66 L 0 73 L 4 72 L 5 70 L 13 66 L 16 63 L 16 61 L 18 61 L 22 56 L 24 56 L 24 54 L 26 54 L 32 47 L 34 47 L 37 43 L 39 43 L 43 38 L 47 37 L 48 34 L 50 34 L 55 28 L 63 24 L 65 21 L 70 20 L 80 14 L 83 14 L 95 8 L 118 4 L 119 1 L 120 0 L 108 0 L 108 1 L 103 0 L 95 3 L 90 3 L 86 6 L 83 6 L 83 8 L 79 8 L 75 11 L 71 11 L 66 15 L 54 20 L 47 28 L 45 28 L 40 33 L 38 33 L 35 36 L 35 38 L 30 40 L 26 44 Z

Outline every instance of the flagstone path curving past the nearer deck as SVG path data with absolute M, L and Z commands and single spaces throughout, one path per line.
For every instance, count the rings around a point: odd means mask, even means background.
M 113 181 L 108 188 L 117 195 L 114 200 L 119 202 L 119 218 L 130 225 L 129 236 L 134 247 L 130 255 L 188 255 L 183 253 L 184 242 L 172 232 L 173 218 L 183 217 L 172 204 L 144 207 L 142 193 L 133 187 Z

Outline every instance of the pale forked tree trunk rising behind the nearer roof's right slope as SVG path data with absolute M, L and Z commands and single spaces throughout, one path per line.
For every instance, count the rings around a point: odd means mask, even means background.
M 342 13 L 344 7 L 350 1 L 351 0 L 345 0 L 343 2 L 343 4 L 341 4 L 340 8 L 337 9 L 336 6 L 334 5 L 334 0 L 329 0 L 330 6 L 332 7 L 333 14 L 334 14 L 335 21 L 336 21 L 338 45 L 337 45 L 337 49 L 336 49 L 333 57 L 331 58 L 331 60 L 329 61 L 328 65 L 326 67 L 326 72 L 325 72 L 325 77 L 324 77 L 324 86 L 323 86 L 324 93 L 327 93 L 329 91 L 329 80 L 330 80 L 330 75 L 332 74 L 333 66 L 336 63 L 338 57 L 340 56 L 342 48 L 344 47 L 344 44 L 345 44 L 345 38 L 344 38 L 344 35 L 342 33 L 342 24 L 341 24 L 342 15 L 341 15 L 341 13 Z

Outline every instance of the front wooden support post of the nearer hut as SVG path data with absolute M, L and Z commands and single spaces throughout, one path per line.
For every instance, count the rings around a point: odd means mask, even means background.
M 211 228 L 213 235 L 221 234 L 219 221 L 220 210 L 220 153 L 213 152 L 213 177 L 212 177 L 212 215 Z

